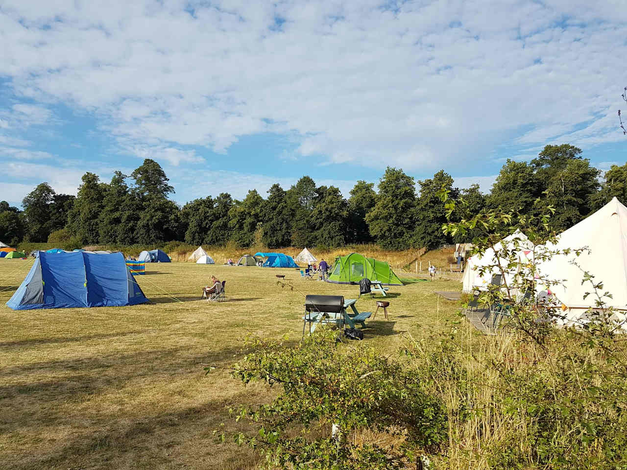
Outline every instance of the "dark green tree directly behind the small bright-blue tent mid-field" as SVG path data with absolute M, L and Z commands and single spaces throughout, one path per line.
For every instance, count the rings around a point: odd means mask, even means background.
M 261 215 L 263 244 L 271 248 L 289 246 L 292 241 L 293 207 L 279 184 L 273 184 L 268 189 L 268 199 Z

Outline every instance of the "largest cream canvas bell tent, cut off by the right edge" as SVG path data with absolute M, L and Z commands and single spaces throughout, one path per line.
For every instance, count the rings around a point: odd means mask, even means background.
M 540 285 L 537 289 L 542 291 L 548 288 L 562 304 L 565 323 L 581 320 L 588 308 L 597 306 L 591 283 L 586 281 L 582 285 L 584 271 L 594 276 L 594 283 L 603 283 L 601 294 L 611 293 L 612 298 L 602 299 L 607 306 L 627 310 L 627 207 L 616 197 L 594 214 L 562 232 L 557 238 L 557 244 L 547 246 L 551 250 L 584 247 L 587 250 L 579 256 L 575 253 L 558 254 L 538 266 L 542 279 L 560 281 L 559 285 Z M 586 292 L 591 294 L 584 298 Z M 621 316 L 624 317 L 624 313 Z

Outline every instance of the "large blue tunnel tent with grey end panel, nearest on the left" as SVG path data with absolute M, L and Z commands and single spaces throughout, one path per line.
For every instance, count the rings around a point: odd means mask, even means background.
M 31 270 L 6 303 L 13 310 L 125 306 L 148 299 L 122 253 L 38 251 Z

